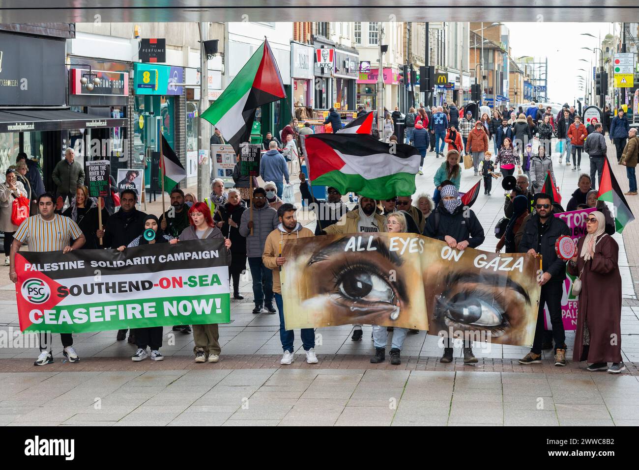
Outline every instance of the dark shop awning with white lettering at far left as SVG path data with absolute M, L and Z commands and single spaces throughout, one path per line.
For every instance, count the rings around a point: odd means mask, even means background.
M 0 110 L 0 132 L 37 132 L 126 126 L 127 119 L 112 119 L 69 109 Z

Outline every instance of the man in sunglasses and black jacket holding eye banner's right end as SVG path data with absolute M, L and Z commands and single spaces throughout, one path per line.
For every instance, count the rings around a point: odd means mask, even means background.
M 520 359 L 521 364 L 541 362 L 544 337 L 544 305 L 548 305 L 553 339 L 555 340 L 555 366 L 566 365 L 566 331 L 562 319 L 561 299 L 566 279 L 566 261 L 557 256 L 555 243 L 562 235 L 571 235 L 571 230 L 562 219 L 553 216 L 552 197 L 546 193 L 535 194 L 535 213 L 523 226 L 523 237 L 518 251 L 534 257 L 541 255 L 543 274 L 539 279 L 541 296 L 537 312 L 537 328 L 532 349 Z

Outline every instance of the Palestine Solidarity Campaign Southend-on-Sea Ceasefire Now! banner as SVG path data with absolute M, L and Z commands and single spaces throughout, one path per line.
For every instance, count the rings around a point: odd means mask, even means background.
M 15 255 L 22 331 L 83 333 L 230 321 L 224 239 Z

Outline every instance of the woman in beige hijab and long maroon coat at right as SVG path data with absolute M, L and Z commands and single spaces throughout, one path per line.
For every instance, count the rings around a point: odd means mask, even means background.
M 579 239 L 568 263 L 568 272 L 581 279 L 573 361 L 589 362 L 590 371 L 619 374 L 626 370 L 621 358 L 619 245 L 604 232 L 603 213 L 591 212 L 586 222 L 588 233 Z

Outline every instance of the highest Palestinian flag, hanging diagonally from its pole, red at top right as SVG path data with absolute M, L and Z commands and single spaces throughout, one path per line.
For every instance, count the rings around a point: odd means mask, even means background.
M 265 40 L 200 117 L 219 129 L 235 153 L 239 153 L 240 144 L 249 142 L 255 110 L 281 98 L 286 98 L 284 84 L 271 47 Z

